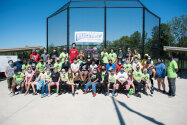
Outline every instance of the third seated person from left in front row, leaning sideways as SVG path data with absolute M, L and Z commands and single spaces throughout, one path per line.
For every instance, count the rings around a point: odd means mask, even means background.
M 36 71 L 32 77 L 32 82 L 31 82 L 33 95 L 37 95 L 37 92 L 34 86 L 36 85 L 36 89 L 40 90 L 42 88 L 43 83 L 44 83 L 43 74 L 40 73 L 40 71 Z

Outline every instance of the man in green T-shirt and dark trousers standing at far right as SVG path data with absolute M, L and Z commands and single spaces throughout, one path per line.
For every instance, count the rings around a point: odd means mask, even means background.
M 167 65 L 167 77 L 169 84 L 169 96 L 174 97 L 176 91 L 176 78 L 178 72 L 178 65 L 175 60 L 173 60 L 173 56 L 169 56 L 169 63 Z

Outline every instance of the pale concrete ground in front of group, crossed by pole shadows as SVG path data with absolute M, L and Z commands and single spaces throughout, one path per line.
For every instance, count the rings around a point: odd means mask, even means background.
M 187 125 L 186 88 L 187 79 L 177 79 L 174 98 L 156 91 L 153 96 L 142 95 L 141 99 L 123 94 L 92 97 L 80 90 L 75 97 L 71 94 L 10 97 L 6 81 L 1 81 L 0 125 Z

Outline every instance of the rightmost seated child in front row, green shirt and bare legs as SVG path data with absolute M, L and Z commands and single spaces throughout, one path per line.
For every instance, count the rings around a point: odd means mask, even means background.
M 146 94 L 146 95 L 148 95 L 148 94 L 147 94 L 147 89 L 149 89 L 150 92 L 151 92 L 151 94 L 153 94 L 153 91 L 152 91 L 151 87 L 149 86 L 149 83 L 150 83 L 150 76 L 149 76 L 149 74 L 147 73 L 147 69 L 144 68 L 144 69 L 143 69 L 143 74 L 142 74 L 142 84 L 143 84 L 144 87 L 145 87 L 145 94 Z

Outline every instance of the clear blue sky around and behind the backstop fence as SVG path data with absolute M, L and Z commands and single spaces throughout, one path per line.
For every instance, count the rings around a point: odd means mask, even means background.
M 46 17 L 55 12 L 58 8 L 64 5 L 68 0 L 0 0 L 0 48 L 10 48 L 10 47 L 23 47 L 23 46 L 46 46 Z M 161 17 L 162 23 L 166 23 L 172 19 L 174 16 L 181 16 L 182 14 L 187 14 L 187 0 L 141 0 L 142 3 L 150 9 L 153 13 Z M 90 10 L 93 11 L 93 10 Z M 138 13 L 134 10 L 132 14 Z M 88 24 L 82 25 L 87 27 L 87 30 L 96 27 L 95 30 L 102 31 L 102 29 L 97 28 L 98 25 L 102 25 L 103 20 L 99 19 L 100 15 L 98 11 L 98 20 L 95 21 L 93 26 Z M 73 42 L 74 31 L 79 29 L 81 25 L 81 19 L 79 18 L 81 14 L 89 14 L 88 12 L 72 11 L 72 14 L 76 14 L 75 17 L 71 18 L 71 22 L 74 25 L 70 27 L 70 40 Z M 115 12 L 113 12 L 115 14 Z M 108 16 L 108 25 L 112 24 L 112 21 L 118 23 L 119 20 L 131 19 L 136 22 L 141 16 L 133 18 L 127 18 L 127 11 L 123 12 L 126 18 L 119 17 L 119 19 L 112 18 Z M 79 16 L 78 16 L 79 15 Z M 131 16 L 132 17 L 132 16 Z M 63 21 L 63 19 L 62 19 Z M 111 22 L 110 22 L 111 21 Z M 91 21 L 92 22 L 92 21 Z M 91 23 L 90 22 L 90 23 Z M 133 21 L 132 21 L 133 22 Z M 131 22 L 131 23 L 132 23 Z M 77 24 L 77 25 L 76 25 Z M 77 29 L 75 27 L 77 27 Z M 117 39 L 118 35 L 122 35 L 121 31 L 119 33 L 111 32 L 115 31 L 115 28 L 119 26 L 109 27 L 108 36 L 110 40 Z M 125 26 L 124 26 L 125 27 Z M 133 27 L 141 27 L 141 22 L 136 22 Z M 131 28 L 133 28 L 131 26 Z M 59 28 L 59 27 L 57 27 Z M 126 27 L 128 28 L 128 27 Z M 54 29 L 54 28 L 53 28 Z M 126 34 L 130 34 L 130 28 L 128 28 Z M 138 30 L 141 29 L 137 28 Z M 54 29 L 55 30 L 55 29 Z M 62 29 L 60 29 L 62 30 Z M 53 31 L 51 31 L 53 32 Z M 55 31 L 54 31 L 55 32 Z M 125 30 L 124 30 L 125 32 Z M 65 34 L 65 33 L 64 33 Z M 66 36 L 62 36 L 66 40 Z

